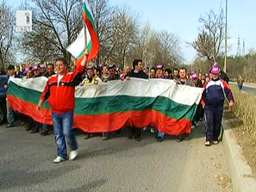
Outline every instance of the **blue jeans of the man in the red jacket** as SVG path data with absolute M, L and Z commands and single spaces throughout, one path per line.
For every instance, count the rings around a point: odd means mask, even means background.
M 52 112 L 52 119 L 55 142 L 57 146 L 57 155 L 61 158 L 67 158 L 65 137 L 68 139 L 68 146 L 72 151 L 78 149 L 76 136 L 72 131 L 73 111 L 63 114 L 56 114 Z

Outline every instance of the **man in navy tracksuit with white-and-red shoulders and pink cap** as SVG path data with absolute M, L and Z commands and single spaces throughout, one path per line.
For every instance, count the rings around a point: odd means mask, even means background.
M 234 96 L 227 82 L 219 77 L 220 68 L 213 66 L 210 73 L 211 80 L 204 84 L 201 104 L 205 114 L 205 146 L 218 144 L 218 137 L 222 127 L 222 113 L 225 96 L 228 98 L 228 106 L 234 105 Z

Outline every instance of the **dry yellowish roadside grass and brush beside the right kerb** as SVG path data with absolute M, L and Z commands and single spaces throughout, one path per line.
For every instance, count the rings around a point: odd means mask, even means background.
M 224 121 L 233 129 L 240 150 L 251 167 L 256 180 L 256 95 L 238 90 L 230 85 L 234 94 L 234 107 L 225 104 Z M 228 103 L 227 103 L 228 104 Z

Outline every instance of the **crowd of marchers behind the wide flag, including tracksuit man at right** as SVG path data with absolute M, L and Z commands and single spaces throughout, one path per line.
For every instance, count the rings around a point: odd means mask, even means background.
M 68 71 L 75 70 L 72 65 Z M 8 66 L 9 77 L 4 89 L 8 89 L 9 80 L 13 77 L 22 79 L 47 77 L 50 78 L 56 74 L 53 64 L 47 65 L 21 65 L 21 66 Z M 104 84 L 114 80 L 128 80 L 130 77 L 137 78 L 165 78 L 174 80 L 176 84 L 188 85 L 192 87 L 204 88 L 202 101 L 197 106 L 197 112 L 194 116 L 191 129 L 198 126 L 199 121 L 205 121 L 205 146 L 218 143 L 218 135 L 222 123 L 222 111 L 225 96 L 228 98 L 229 107 L 234 105 L 234 97 L 232 91 L 228 87 L 228 76 L 221 71 L 219 65 L 214 64 L 209 72 L 205 74 L 193 71 L 188 73 L 186 68 L 173 69 L 165 68 L 163 65 L 156 65 L 155 67 L 143 67 L 142 60 L 135 59 L 132 66 L 125 66 L 123 70 L 117 68 L 116 65 L 87 65 L 84 71 L 80 74 L 78 79 L 79 86 L 84 84 Z M 34 121 L 27 115 L 18 115 L 22 121 L 22 126 L 26 127 L 30 133 L 41 133 L 47 135 L 53 126 L 41 124 Z M 7 103 L 7 127 L 14 127 L 14 112 Z M 128 139 L 136 139 L 140 141 L 141 131 L 150 129 L 151 133 L 155 133 L 157 141 L 164 140 L 165 133 L 160 133 L 154 127 L 128 127 Z M 89 139 L 94 133 L 84 133 L 84 139 Z M 103 140 L 110 139 L 113 134 L 121 135 L 121 129 L 116 133 L 103 133 Z M 188 135 L 179 135 L 177 141 L 180 142 L 188 138 Z

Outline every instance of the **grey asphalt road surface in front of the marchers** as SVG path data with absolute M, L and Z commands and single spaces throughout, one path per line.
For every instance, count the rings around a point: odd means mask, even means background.
M 222 144 L 204 146 L 201 127 L 177 143 L 157 143 L 152 133 L 140 142 L 122 137 L 84 140 L 78 134 L 74 161 L 53 164 L 53 134 L 41 136 L 24 127 L 0 127 L 0 191 L 224 191 L 216 179 L 228 175 Z

